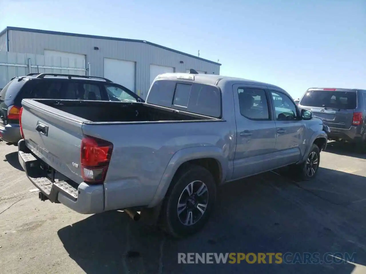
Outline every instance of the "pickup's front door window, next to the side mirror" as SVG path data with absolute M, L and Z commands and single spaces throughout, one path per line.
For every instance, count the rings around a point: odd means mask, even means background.
M 272 91 L 275 118 L 278 121 L 297 120 L 297 110 L 294 102 L 281 92 Z

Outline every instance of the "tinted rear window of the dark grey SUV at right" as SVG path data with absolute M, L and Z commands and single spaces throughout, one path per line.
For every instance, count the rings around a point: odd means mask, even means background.
M 300 104 L 308 107 L 329 107 L 333 109 L 355 109 L 356 92 L 350 91 L 308 91 Z

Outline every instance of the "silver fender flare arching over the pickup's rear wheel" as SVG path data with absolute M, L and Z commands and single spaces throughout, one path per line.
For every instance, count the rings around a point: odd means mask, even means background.
M 202 158 L 213 158 L 220 163 L 222 170 L 222 183 L 226 178 L 228 161 L 224 157 L 223 151 L 220 148 L 218 148 L 217 146 L 196 146 L 193 148 L 183 148 L 177 151 L 169 161 L 167 167 L 165 168 L 164 174 L 161 177 L 156 193 L 152 201 L 149 203 L 148 207 L 152 208 L 164 199 L 165 194 L 168 191 L 169 185 L 173 179 L 173 176 L 180 167 L 180 165 L 190 160 Z

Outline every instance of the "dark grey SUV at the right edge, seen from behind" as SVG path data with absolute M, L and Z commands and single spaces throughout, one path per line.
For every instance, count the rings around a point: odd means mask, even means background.
M 298 106 L 329 126 L 328 140 L 354 142 L 365 151 L 366 90 L 309 88 Z

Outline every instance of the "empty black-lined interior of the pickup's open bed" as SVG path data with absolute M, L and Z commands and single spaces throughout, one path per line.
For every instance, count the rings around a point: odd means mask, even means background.
M 34 100 L 91 122 L 157 122 L 216 119 L 146 103 Z

